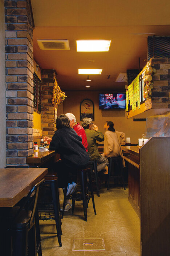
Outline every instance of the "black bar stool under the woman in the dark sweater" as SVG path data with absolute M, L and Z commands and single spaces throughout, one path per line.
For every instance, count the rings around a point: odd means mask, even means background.
M 77 174 L 80 175 L 80 183 L 81 183 L 80 197 L 77 197 L 78 194 L 76 194 L 76 193 L 74 193 L 72 195 L 69 195 L 69 196 L 66 196 L 67 184 L 65 185 L 65 188 L 64 188 L 64 202 L 63 202 L 63 207 L 62 207 L 62 216 L 61 216 L 61 218 L 63 218 L 63 216 L 64 216 L 64 208 L 65 208 L 66 199 L 71 199 L 72 200 L 72 213 L 74 212 L 75 201 L 81 201 L 82 200 L 83 210 L 84 210 L 84 218 L 85 218 L 85 221 L 87 221 L 87 208 L 88 208 L 88 201 L 89 201 L 90 198 L 92 198 L 94 214 L 96 215 L 90 168 L 80 169 L 80 170 L 77 171 Z M 87 195 L 87 192 L 88 192 L 87 175 L 88 175 L 89 187 L 90 187 L 90 191 L 91 191 L 90 195 Z

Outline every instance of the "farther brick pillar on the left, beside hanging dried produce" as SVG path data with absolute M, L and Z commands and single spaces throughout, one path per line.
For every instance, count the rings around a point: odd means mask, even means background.
M 56 131 L 55 109 L 52 105 L 52 92 L 56 81 L 56 71 L 54 69 L 41 70 L 42 90 L 41 90 L 41 126 L 43 136 L 52 137 Z

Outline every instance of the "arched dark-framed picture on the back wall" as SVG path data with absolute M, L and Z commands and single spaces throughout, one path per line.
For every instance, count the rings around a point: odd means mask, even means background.
M 80 121 L 85 117 L 91 118 L 94 121 L 94 103 L 89 99 L 82 100 L 80 103 Z

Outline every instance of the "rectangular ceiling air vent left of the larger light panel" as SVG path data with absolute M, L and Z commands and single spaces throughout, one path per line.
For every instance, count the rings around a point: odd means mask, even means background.
M 37 43 L 41 50 L 70 50 L 67 39 L 37 39 Z

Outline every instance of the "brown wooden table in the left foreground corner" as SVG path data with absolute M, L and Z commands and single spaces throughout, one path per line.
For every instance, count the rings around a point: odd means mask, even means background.
M 47 174 L 47 168 L 0 169 L 0 254 L 11 256 L 11 237 L 7 232 L 8 212 L 36 183 Z M 7 219 L 6 219 L 7 218 Z

